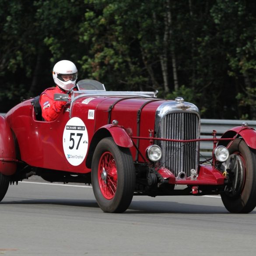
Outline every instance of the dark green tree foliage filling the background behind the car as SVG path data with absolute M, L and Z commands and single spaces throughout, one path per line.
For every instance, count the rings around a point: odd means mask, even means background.
M 53 86 L 67 59 L 107 90 L 256 119 L 255 0 L 1 0 L 0 33 L 0 112 Z

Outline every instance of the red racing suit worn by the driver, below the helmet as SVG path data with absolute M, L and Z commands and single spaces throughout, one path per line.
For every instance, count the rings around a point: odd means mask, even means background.
M 39 103 L 42 108 L 42 117 L 45 121 L 55 120 L 59 116 L 62 107 L 67 103 L 63 101 L 55 101 L 55 93 L 65 94 L 66 92 L 56 86 L 55 88 L 46 89 L 40 95 Z

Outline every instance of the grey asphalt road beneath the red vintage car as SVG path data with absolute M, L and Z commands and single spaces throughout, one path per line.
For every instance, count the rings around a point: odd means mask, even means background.
M 0 203 L 0 255 L 251 256 L 256 210 L 229 214 L 219 197 L 134 196 L 105 214 L 91 187 L 19 182 Z

